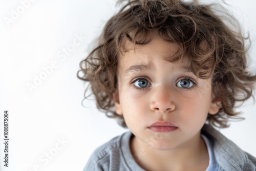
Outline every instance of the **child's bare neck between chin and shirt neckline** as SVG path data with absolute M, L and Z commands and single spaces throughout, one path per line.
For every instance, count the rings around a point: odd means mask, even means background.
M 200 133 L 174 149 L 158 150 L 136 137 L 130 146 L 136 162 L 145 170 L 206 170 L 209 164 L 207 147 Z

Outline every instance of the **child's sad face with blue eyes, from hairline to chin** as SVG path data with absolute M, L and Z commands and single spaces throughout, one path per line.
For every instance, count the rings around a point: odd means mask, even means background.
M 165 60 L 175 52 L 174 44 L 155 37 L 118 61 L 115 108 L 137 144 L 167 150 L 197 143 L 207 114 L 219 110 L 212 102 L 210 78 L 189 72 L 185 59 Z

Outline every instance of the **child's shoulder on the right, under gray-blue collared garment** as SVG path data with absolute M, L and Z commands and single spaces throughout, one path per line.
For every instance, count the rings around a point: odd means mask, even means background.
M 256 158 L 209 125 L 202 134 L 214 142 L 214 154 L 221 170 L 256 170 Z

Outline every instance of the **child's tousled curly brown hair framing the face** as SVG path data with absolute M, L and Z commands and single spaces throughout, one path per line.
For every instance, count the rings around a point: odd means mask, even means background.
M 189 70 L 202 79 L 212 77 L 212 92 L 221 104 L 218 114 L 208 114 L 207 122 L 227 127 L 230 119 L 238 118 L 240 113 L 234 111 L 235 104 L 252 95 L 256 75 L 246 71 L 248 48 L 245 40 L 248 37 L 242 35 L 237 20 L 224 15 L 217 10 L 220 6 L 217 7 L 197 1 L 127 2 L 106 23 L 97 47 L 80 62 L 77 76 L 89 81 L 97 108 L 108 117 L 118 118 L 126 127 L 123 116 L 115 112 L 112 96 L 117 88 L 118 57 L 126 50 L 124 39 L 132 41 L 134 46 L 145 45 L 152 40 L 154 31 L 163 40 L 178 45 L 177 53 L 168 61 L 176 62 L 188 56 Z M 228 27 L 230 22 L 225 23 L 230 18 L 231 26 L 237 31 Z

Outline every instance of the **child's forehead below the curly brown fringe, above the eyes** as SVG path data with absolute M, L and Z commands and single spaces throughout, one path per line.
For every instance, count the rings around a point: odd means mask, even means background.
M 135 45 L 126 40 L 125 52 L 119 55 L 118 68 L 136 66 L 134 69 L 148 69 L 154 66 L 155 60 L 163 60 L 166 63 L 176 63 L 177 66 L 184 68 L 188 66 L 188 58 L 178 55 L 178 45 L 173 42 L 164 41 L 158 36 L 154 36 L 152 41 L 145 45 Z M 174 60 L 174 58 L 176 58 Z M 140 67 L 139 67 L 140 65 Z

